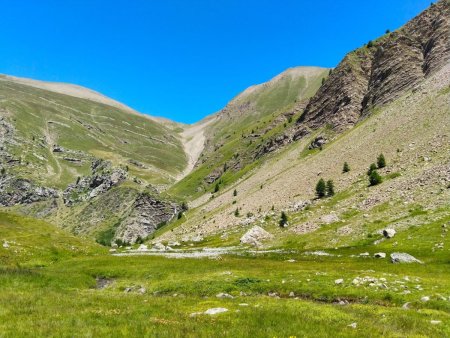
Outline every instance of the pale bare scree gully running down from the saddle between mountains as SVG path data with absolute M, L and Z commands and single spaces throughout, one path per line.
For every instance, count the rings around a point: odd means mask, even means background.
M 183 172 L 177 176 L 177 181 L 186 177 L 194 169 L 195 163 L 197 163 L 205 146 L 205 128 L 215 121 L 216 118 L 213 118 L 199 124 L 193 124 L 180 134 L 188 163 Z

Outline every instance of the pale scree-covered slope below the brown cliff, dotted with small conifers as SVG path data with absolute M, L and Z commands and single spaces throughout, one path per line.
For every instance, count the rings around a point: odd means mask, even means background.
M 448 78 L 447 66 L 414 92 L 405 93 L 342 135 L 326 128 L 317 131 L 334 139 L 322 151 L 308 149 L 317 134 L 292 144 L 214 199 L 201 197 L 192 203 L 197 208 L 167 236 L 181 238 L 192 232 L 219 236 L 231 231 L 235 234 L 224 243 L 236 244 L 250 225 L 263 224 L 279 239 L 293 240 L 300 246 L 323 246 L 326 236 L 334 247 L 365 241 L 387 224 L 398 223 L 399 229 L 406 230 L 406 224 L 421 222 L 420 218 L 407 217 L 416 208 L 445 216 L 450 200 Z M 366 171 L 380 153 L 388 159 L 388 166 L 380 170 L 385 182 L 368 188 Z M 352 168 L 347 174 L 342 173 L 345 161 Z M 321 177 L 334 180 L 336 196 L 314 199 Z M 303 201 L 311 203 L 307 210 L 292 211 Z M 239 217 L 234 215 L 236 208 Z M 277 226 L 281 210 L 290 214 L 287 231 Z M 339 220 L 332 227 L 323 227 L 321 217 L 327 213 Z M 312 231 L 319 233 L 304 235 Z M 336 237 L 336 232 L 342 232 L 343 238 Z

